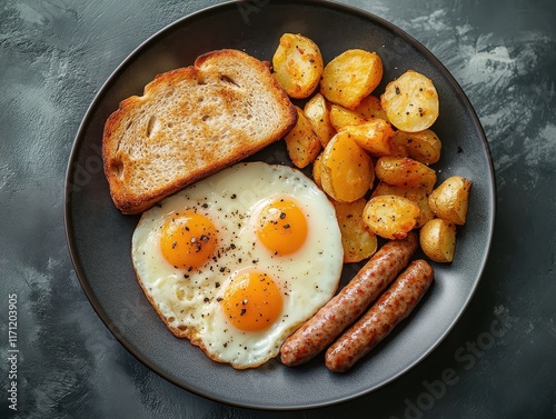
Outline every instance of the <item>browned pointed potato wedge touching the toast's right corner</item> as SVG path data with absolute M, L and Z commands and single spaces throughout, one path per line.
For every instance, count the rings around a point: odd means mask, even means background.
M 302 169 L 311 163 L 319 154 L 322 146 L 304 111 L 296 107 L 297 123 L 284 138 L 288 154 L 295 166 Z

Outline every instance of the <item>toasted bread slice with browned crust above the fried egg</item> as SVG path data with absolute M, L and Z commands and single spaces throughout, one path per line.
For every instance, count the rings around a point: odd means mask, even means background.
M 161 73 L 107 120 L 110 196 L 123 213 L 161 199 L 282 138 L 296 109 L 264 62 L 239 50 Z

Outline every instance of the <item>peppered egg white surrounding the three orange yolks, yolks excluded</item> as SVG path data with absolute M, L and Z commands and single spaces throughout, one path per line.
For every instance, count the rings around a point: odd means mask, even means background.
M 256 236 L 258 212 L 279 198 L 294 200 L 308 223 L 305 245 L 289 256 L 272 255 Z M 165 218 L 185 209 L 208 217 L 218 230 L 215 257 L 192 271 L 171 266 L 159 245 Z M 300 171 L 262 162 L 232 166 L 165 199 L 142 215 L 131 248 L 137 278 L 169 329 L 239 369 L 276 357 L 334 296 L 342 267 L 340 231 L 325 193 Z M 282 292 L 279 319 L 259 332 L 236 329 L 219 303 L 230 279 L 246 269 L 268 273 Z

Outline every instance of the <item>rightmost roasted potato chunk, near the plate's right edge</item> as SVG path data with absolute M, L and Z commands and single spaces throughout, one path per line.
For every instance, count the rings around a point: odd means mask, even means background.
M 470 187 L 471 181 L 461 176 L 449 177 L 428 197 L 430 210 L 443 220 L 465 225 Z

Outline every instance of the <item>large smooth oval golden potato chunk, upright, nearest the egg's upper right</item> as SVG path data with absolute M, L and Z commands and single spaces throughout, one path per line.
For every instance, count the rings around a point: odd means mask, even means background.
M 322 190 L 340 202 L 363 198 L 375 180 L 369 154 L 347 136 L 334 136 L 320 160 Z

